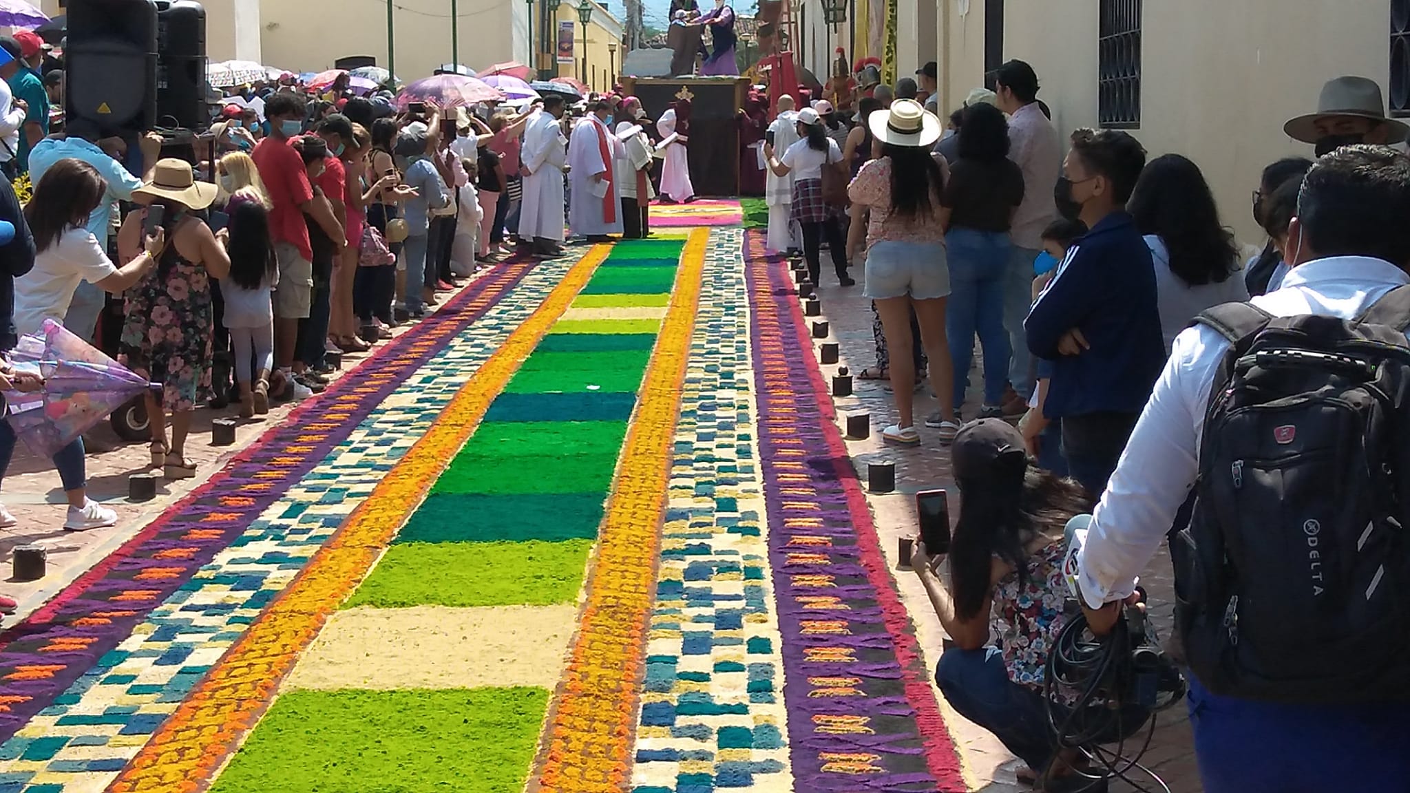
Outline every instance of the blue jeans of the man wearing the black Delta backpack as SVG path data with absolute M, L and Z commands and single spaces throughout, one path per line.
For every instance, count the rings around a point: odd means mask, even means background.
M 1190 677 L 1189 706 L 1204 793 L 1406 789 L 1410 703 L 1259 703 Z

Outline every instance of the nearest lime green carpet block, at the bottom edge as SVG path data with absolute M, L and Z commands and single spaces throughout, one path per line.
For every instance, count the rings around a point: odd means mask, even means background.
M 210 790 L 519 793 L 547 707 L 527 687 L 289 691 Z

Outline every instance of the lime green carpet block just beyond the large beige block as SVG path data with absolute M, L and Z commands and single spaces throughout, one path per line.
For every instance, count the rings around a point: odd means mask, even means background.
M 591 539 L 392 545 L 343 608 L 572 603 L 592 545 Z M 537 727 L 534 721 L 534 734 Z

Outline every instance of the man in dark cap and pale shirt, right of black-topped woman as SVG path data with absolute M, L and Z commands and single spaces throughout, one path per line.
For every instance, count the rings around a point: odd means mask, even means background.
M 1024 172 L 1024 200 L 1014 212 L 1010 227 L 1014 247 L 1004 282 L 1004 327 L 1014 349 L 1008 381 L 1015 391 L 1015 396 L 1004 405 L 1004 415 L 1017 416 L 1028 411 L 1028 396 L 1034 392 L 1032 356 L 1024 320 L 1034 305 L 1034 260 L 1043 250 L 1043 229 L 1058 219 L 1053 188 L 1062 175 L 1063 145 L 1038 104 L 1038 75 L 1032 66 L 1010 61 L 998 68 L 994 80 L 998 109 L 1010 114 L 1008 158 Z M 970 99 L 974 99 L 973 93 Z

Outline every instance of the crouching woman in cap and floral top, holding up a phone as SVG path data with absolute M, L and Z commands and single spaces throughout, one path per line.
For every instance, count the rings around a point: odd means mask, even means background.
M 1003 419 L 964 425 L 950 464 L 960 512 L 949 543 L 949 583 L 939 573 L 946 557 L 924 539 L 911 553 L 911 567 L 955 641 L 940 655 L 935 682 L 956 711 L 1028 763 L 1029 779 L 1046 777 L 1043 790 L 1086 789 L 1091 780 L 1073 773 L 1074 755 L 1059 755 L 1053 745 L 1043 680 L 1048 649 L 1066 624 L 1063 528 L 1091 509 L 1091 497 L 1076 481 L 1031 464 L 1024 436 Z

